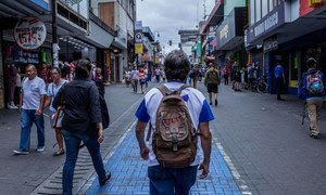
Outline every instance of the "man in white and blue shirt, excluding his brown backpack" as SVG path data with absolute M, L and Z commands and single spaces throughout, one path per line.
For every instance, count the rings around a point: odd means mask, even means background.
M 164 164 L 159 162 L 153 151 L 153 133 L 148 133 L 147 142 L 145 141 L 147 123 L 150 122 L 152 132 L 155 132 L 156 113 L 160 103 L 163 98 L 167 100 L 166 95 L 168 94 L 163 95 L 159 88 L 150 90 L 137 109 L 136 136 L 141 158 L 148 160 L 150 194 L 187 195 L 196 182 L 198 167 L 203 170 L 200 178 L 204 179 L 209 174 L 212 142 L 209 121 L 214 119 L 214 115 L 204 95 L 197 89 L 185 86 L 190 70 L 190 62 L 183 51 L 175 50 L 167 54 L 164 68 L 167 79 L 164 88 L 168 89 L 170 93 L 174 95 L 180 90 L 179 95 L 188 108 L 192 126 L 196 127 L 196 132 L 201 133 L 201 136 L 198 138 L 195 159 L 189 161 L 190 164 L 187 167 L 164 167 Z M 164 114 L 160 113 L 160 115 Z

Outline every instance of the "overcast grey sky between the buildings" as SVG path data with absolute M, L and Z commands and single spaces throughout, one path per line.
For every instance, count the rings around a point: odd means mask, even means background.
M 137 0 L 137 21 L 142 21 L 155 36 L 160 31 L 161 46 L 168 52 L 178 47 L 179 29 L 193 29 L 198 21 L 203 21 L 204 2 L 209 15 L 215 0 Z M 168 46 L 168 40 L 173 41 L 173 47 Z

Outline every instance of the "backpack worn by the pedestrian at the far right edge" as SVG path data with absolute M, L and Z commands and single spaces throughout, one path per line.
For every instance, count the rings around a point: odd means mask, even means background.
M 306 91 L 311 96 L 324 95 L 324 83 L 319 72 L 306 76 Z

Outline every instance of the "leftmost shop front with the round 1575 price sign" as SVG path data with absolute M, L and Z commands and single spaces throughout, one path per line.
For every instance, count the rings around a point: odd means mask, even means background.
M 47 80 L 48 75 L 45 69 L 50 67 L 52 60 L 47 28 L 39 18 L 28 16 L 15 20 L 14 26 L 1 32 L 1 62 L 4 80 L 0 92 L 1 100 L 4 100 L 0 105 L 2 108 L 7 103 L 10 105 L 18 103 L 18 91 L 15 91 L 14 96 L 10 96 L 10 89 L 15 88 L 16 83 L 9 82 L 9 80 L 23 78 L 26 66 L 29 64 L 35 65 L 39 77 Z M 17 73 L 20 77 L 14 73 Z

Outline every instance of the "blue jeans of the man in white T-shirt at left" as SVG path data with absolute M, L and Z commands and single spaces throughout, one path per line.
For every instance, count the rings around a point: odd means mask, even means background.
M 30 129 L 33 122 L 37 128 L 37 148 L 45 146 L 45 119 L 43 115 L 36 115 L 36 109 L 22 109 L 20 151 L 29 151 Z

